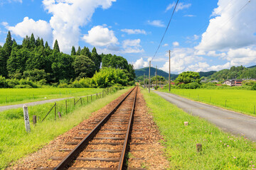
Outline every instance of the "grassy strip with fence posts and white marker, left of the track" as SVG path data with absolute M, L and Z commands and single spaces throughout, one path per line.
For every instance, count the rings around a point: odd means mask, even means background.
M 46 120 L 41 123 L 43 117 L 48 113 L 54 103 L 46 103 L 38 106 L 28 107 L 29 119 L 31 122 L 31 132 L 26 133 L 23 120 L 22 109 L 4 111 L 0 113 L 0 169 L 4 169 L 10 162 L 24 157 L 26 154 L 35 152 L 46 145 L 47 142 L 53 140 L 63 132 L 70 130 L 78 125 L 82 120 L 89 118 L 90 113 L 97 111 L 103 106 L 110 103 L 115 98 L 124 94 L 128 89 L 114 91 L 114 94 L 105 96 L 96 100 L 96 96 L 82 98 L 74 107 L 73 99 L 67 100 L 68 113 L 65 110 L 65 101 L 58 101 L 57 112 L 63 115 L 61 120 L 54 120 L 54 109 L 50 112 Z M 78 98 L 76 99 L 76 101 Z M 32 115 L 40 117 L 37 125 L 32 123 Z

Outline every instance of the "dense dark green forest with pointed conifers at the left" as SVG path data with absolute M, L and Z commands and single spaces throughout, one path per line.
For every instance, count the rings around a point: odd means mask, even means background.
M 124 57 L 117 55 L 97 54 L 93 47 L 73 46 L 70 55 L 60 52 L 58 40 L 53 49 L 43 38 L 35 38 L 33 33 L 23 38 L 21 45 L 7 34 L 4 46 L 0 45 L 0 77 L 5 79 L 26 79 L 40 81 L 41 84 L 72 84 L 84 78 L 92 78 L 100 67 L 122 69 L 127 75 L 127 81 L 134 81 L 135 74 L 132 64 Z M 110 71 L 110 70 L 109 70 Z

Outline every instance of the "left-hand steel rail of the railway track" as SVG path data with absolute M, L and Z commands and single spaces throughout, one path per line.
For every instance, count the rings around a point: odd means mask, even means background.
M 132 91 L 134 91 L 134 89 L 136 88 L 136 86 L 129 92 L 129 94 L 132 93 Z M 68 169 L 70 167 L 70 164 L 78 157 L 78 155 L 80 154 L 80 152 L 82 152 L 82 149 L 85 148 L 85 146 L 88 144 L 88 142 L 90 142 L 90 140 L 92 140 L 92 138 L 97 134 L 97 132 L 100 130 L 100 128 L 102 127 L 102 125 L 105 125 L 105 123 L 107 122 L 107 120 L 109 120 L 110 116 L 117 111 L 117 108 L 119 108 L 119 106 L 121 106 L 121 104 L 123 103 L 123 101 L 129 96 L 129 94 L 127 94 L 127 96 L 125 96 L 122 101 L 120 101 L 117 106 L 109 113 L 105 116 L 105 118 L 103 118 L 103 120 L 100 121 L 100 123 L 97 124 L 97 126 L 75 147 L 75 149 L 73 149 L 67 157 L 65 157 L 60 164 L 58 164 L 57 166 L 55 166 L 55 168 L 53 168 L 53 170 L 64 170 L 64 169 Z

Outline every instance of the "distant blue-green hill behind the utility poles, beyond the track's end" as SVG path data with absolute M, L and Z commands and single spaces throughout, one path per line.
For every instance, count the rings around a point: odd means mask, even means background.
M 149 67 L 144 67 L 142 69 L 135 69 L 136 77 L 141 77 L 145 74 L 146 77 L 149 77 Z M 156 68 L 150 67 L 150 76 L 153 77 L 156 74 Z M 157 75 L 164 77 L 165 79 L 169 79 L 169 74 L 164 72 L 161 69 L 157 69 Z M 176 79 L 178 74 L 171 74 L 171 79 Z

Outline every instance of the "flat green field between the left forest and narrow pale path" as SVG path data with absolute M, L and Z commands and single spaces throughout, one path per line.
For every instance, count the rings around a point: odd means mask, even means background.
M 95 88 L 0 89 L 0 106 L 52 98 L 86 96 L 100 92 L 102 89 Z

